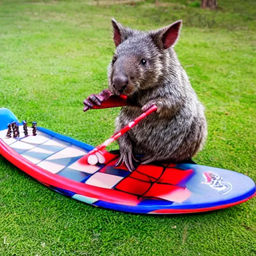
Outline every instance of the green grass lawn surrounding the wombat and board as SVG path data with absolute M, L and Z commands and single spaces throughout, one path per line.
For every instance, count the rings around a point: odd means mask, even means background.
M 95 6 L 80 1 L 0 1 L 0 106 L 19 119 L 96 145 L 118 109 L 82 112 L 107 86 L 110 18 L 151 29 L 183 19 L 175 46 L 206 108 L 208 139 L 195 160 L 256 180 L 256 6 L 219 0 Z M 165 5 L 164 5 L 165 4 Z M 164 5 L 164 6 L 163 6 Z M 255 255 L 256 200 L 192 215 L 99 209 L 42 186 L 0 157 L 0 255 Z M 5 244 L 4 244 L 5 237 Z

